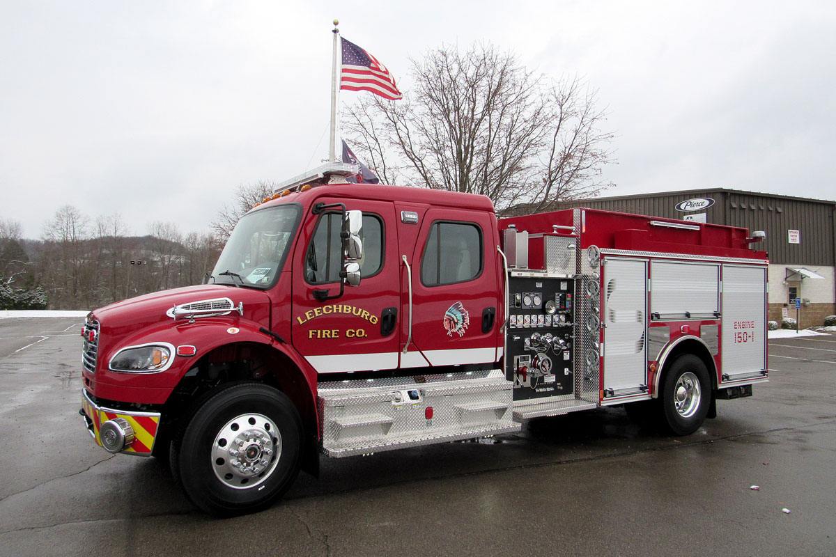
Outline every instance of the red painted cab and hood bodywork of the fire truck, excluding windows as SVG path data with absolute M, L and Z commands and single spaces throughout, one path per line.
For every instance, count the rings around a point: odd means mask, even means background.
M 370 210 L 379 214 L 385 221 L 385 268 L 378 276 L 361 281 L 360 286 L 346 286 L 344 296 L 333 301 L 319 302 L 313 298 L 313 291 L 328 288 L 339 290 L 339 283 L 332 285 L 309 285 L 303 280 L 303 266 L 308 240 L 314 230 L 317 215 L 311 208 L 321 200 L 341 202 L 348 210 Z M 400 257 L 406 255 L 413 265 L 420 268 L 420 247 L 418 235 L 422 230 L 423 216 L 429 208 L 448 208 L 454 213 L 469 210 L 482 219 L 485 268 L 475 288 L 458 294 L 461 288 L 441 287 L 455 290 L 456 301 L 463 301 L 474 307 L 473 335 L 460 338 L 457 347 L 495 347 L 501 346 L 498 333 L 499 324 L 488 334 L 481 332 L 482 306 L 497 306 L 499 277 L 501 269 L 497 266 L 495 246 L 498 245 L 496 219 L 491 200 L 482 195 L 467 195 L 456 192 L 426 190 L 386 185 L 320 185 L 313 189 L 282 196 L 279 199 L 258 205 L 253 210 L 265 206 L 283 203 L 302 205 L 303 220 L 298 227 L 296 238 L 291 242 L 290 253 L 285 261 L 276 285 L 266 291 L 231 285 L 190 286 L 170 291 L 155 292 L 104 306 L 91 313 L 90 318 L 99 322 L 99 347 L 96 372 L 84 370 L 84 385 L 95 397 L 125 403 L 161 404 L 165 403 L 173 389 L 188 370 L 207 352 L 217 347 L 238 342 L 257 342 L 272 345 L 284 352 L 303 372 L 311 390 L 316 396 L 317 372 L 303 354 L 365 354 L 369 352 L 390 351 L 400 353 L 405 342 L 408 305 L 405 288 L 405 271 Z M 388 209 L 381 209 L 388 207 Z M 408 210 L 419 214 L 418 225 L 405 225 L 400 221 L 400 211 Z M 416 269 L 417 271 L 417 269 Z M 420 271 L 418 271 L 420 272 Z M 482 280 L 482 277 L 483 280 Z M 415 276 L 418 280 L 418 276 Z M 423 311 L 426 304 L 441 303 L 437 296 L 440 289 L 422 293 L 421 299 L 415 298 L 414 332 L 430 332 L 440 329 L 442 341 L 447 341 L 444 333 L 444 311 Z M 417 292 L 416 292 L 417 295 Z M 190 323 L 186 319 L 175 320 L 166 315 L 174 305 L 187 302 L 228 297 L 233 305 L 243 304 L 243 316 L 232 311 L 227 316 L 198 317 Z M 447 296 L 450 297 L 450 296 Z M 446 298 L 445 298 L 446 300 Z M 446 301 L 444 302 L 446 303 Z M 444 305 L 441 303 L 441 305 Z M 361 306 L 369 311 L 369 316 L 380 320 L 380 311 L 384 307 L 398 307 L 398 324 L 390 336 L 382 338 L 380 323 L 371 323 L 368 317 L 339 313 L 339 316 L 316 316 L 308 327 L 300 325 L 297 318 L 308 322 L 308 311 L 314 312 L 327 305 Z M 445 307 L 446 309 L 446 307 Z M 502 315 L 502 308 L 497 308 L 497 315 Z M 436 315 L 437 314 L 437 315 Z M 338 323 L 339 325 L 334 325 Z M 357 327 L 354 327 L 355 323 Z M 312 327 L 313 325 L 316 327 Z M 501 323 L 500 323 L 501 324 Z M 334 327 L 332 327 L 334 325 Z M 350 327 L 349 327 L 350 326 Z M 266 327 L 278 334 L 288 344 L 281 344 L 273 337 L 260 332 Z M 362 329 L 367 337 L 342 337 L 339 342 L 323 342 L 324 339 L 308 338 L 313 330 L 334 330 L 345 332 Z M 235 332 L 230 332 L 230 331 Z M 473 336 L 478 332 L 479 338 Z M 420 335 L 419 335 L 420 337 Z M 417 337 L 416 337 L 417 338 Z M 336 339 L 329 339 L 336 340 Z M 159 373 L 120 373 L 108 369 L 110 359 L 122 348 L 150 342 L 166 342 L 175 348 L 181 345 L 196 347 L 196 354 L 191 357 L 172 356 L 171 367 Z M 438 349 L 443 343 L 426 339 L 426 347 Z M 493 352 L 495 355 L 495 352 Z M 490 360 L 493 360 L 492 356 Z M 397 362 L 397 358 L 395 358 Z M 398 365 L 395 363 L 395 366 Z M 374 367 L 370 367 L 372 369 Z

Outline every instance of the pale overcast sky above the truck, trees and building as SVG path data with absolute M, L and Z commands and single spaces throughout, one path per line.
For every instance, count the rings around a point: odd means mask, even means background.
M 605 195 L 836 199 L 836 3 L 0 0 L 0 218 L 61 205 L 206 230 L 235 186 L 328 154 L 331 20 L 409 90 L 409 57 L 488 41 L 599 89 Z M 350 102 L 357 95 L 344 92 Z

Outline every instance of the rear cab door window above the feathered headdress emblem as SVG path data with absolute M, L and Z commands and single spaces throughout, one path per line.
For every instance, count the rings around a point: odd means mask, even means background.
M 482 274 L 482 230 L 460 222 L 436 222 L 421 258 L 421 282 L 441 286 L 472 281 Z

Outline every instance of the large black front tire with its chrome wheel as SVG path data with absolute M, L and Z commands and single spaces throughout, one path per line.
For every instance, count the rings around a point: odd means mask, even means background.
M 273 387 L 224 388 L 192 415 L 172 453 L 180 484 L 209 514 L 230 516 L 267 508 L 299 470 L 302 421 Z

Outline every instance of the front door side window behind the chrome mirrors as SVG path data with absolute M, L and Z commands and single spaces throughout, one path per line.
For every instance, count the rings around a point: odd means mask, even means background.
M 319 219 L 314 230 L 314 237 L 308 245 L 305 257 L 305 280 L 313 283 L 339 281 L 340 262 L 342 261 L 342 215 L 326 213 Z M 363 278 L 375 276 L 383 266 L 383 220 L 377 215 L 363 215 L 363 259 L 359 261 L 360 274 Z

